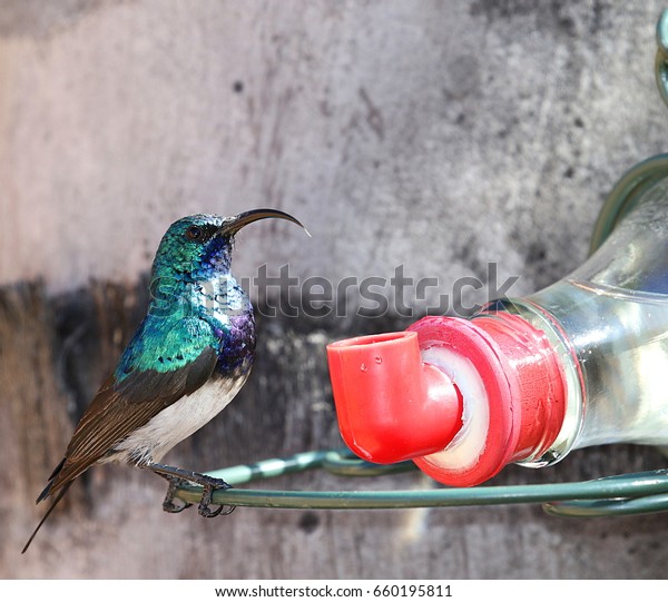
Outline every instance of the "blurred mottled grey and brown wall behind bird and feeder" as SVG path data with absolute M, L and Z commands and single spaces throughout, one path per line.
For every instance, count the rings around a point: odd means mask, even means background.
M 160 510 L 163 483 L 96 468 L 26 556 L 33 500 L 131 335 L 174 219 L 271 206 L 236 273 L 302 280 L 521 276 L 587 255 L 625 169 L 665 150 L 659 2 L 3 0 L 0 2 L 0 575 L 6 578 L 664 578 L 661 515 L 573 521 L 536 506 L 431 511 Z M 324 345 L 413 316 L 259 319 L 250 383 L 167 460 L 207 470 L 340 446 Z M 392 289 L 385 293 L 392 295 Z M 468 289 L 466 305 L 489 287 Z M 275 294 L 261 303 L 275 303 Z M 257 295 L 254 293 L 254 296 Z M 373 304 L 372 304 L 373 305 Z M 494 483 L 662 465 L 581 451 Z M 432 487 L 420 474 L 288 488 Z

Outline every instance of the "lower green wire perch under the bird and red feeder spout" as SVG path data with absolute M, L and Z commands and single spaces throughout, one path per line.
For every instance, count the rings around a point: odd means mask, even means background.
M 271 478 L 313 468 L 344 476 L 379 476 L 411 470 L 410 462 L 382 466 L 352 457 L 347 451 L 304 452 L 285 458 L 264 460 L 210 472 L 230 485 Z M 177 496 L 197 503 L 202 487 L 183 486 Z M 668 511 L 668 470 L 607 476 L 595 481 L 540 485 L 440 487 L 404 491 L 276 491 L 216 490 L 215 504 L 273 509 L 407 509 L 542 504 L 553 515 L 619 516 Z

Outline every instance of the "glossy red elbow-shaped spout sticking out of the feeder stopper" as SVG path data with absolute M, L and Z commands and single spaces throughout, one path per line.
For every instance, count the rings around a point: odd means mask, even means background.
M 341 433 L 361 457 L 389 464 L 431 454 L 461 427 L 461 396 L 422 362 L 416 333 L 341 341 L 327 356 Z

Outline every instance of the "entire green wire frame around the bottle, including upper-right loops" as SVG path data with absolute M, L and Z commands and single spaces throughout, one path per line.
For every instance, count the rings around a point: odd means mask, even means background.
M 668 10 L 657 23 L 657 87 L 668 106 Z M 651 157 L 629 170 L 610 193 L 595 228 L 591 251 L 607 238 L 617 221 L 650 185 L 668 176 L 668 155 Z M 346 451 L 317 451 L 286 458 L 264 460 L 209 473 L 230 485 L 321 468 L 343 476 L 380 476 L 413 468 L 412 462 L 379 465 Z M 202 487 L 184 485 L 176 495 L 197 503 Z M 548 514 L 571 517 L 621 516 L 668 511 L 668 468 L 607 476 L 596 481 L 539 485 L 439 487 L 407 491 L 276 491 L 216 490 L 213 503 L 229 506 L 282 509 L 407 509 L 542 504 Z

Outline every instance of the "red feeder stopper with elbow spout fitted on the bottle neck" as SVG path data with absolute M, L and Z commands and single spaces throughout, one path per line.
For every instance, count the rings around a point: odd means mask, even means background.
M 515 315 L 428 317 L 331 344 L 327 356 L 345 443 L 371 462 L 413 460 L 448 485 L 540 457 L 563 423 L 557 354 Z

